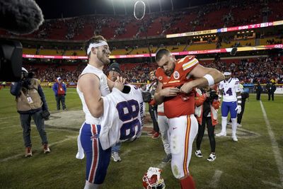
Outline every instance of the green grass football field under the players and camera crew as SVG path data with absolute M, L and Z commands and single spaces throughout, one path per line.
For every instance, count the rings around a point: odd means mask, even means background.
M 51 88 L 44 88 L 52 113 L 45 122 L 50 154 L 43 154 L 39 134 L 32 122 L 33 156 L 24 157 L 23 134 L 15 97 L 9 88 L 0 90 L 0 188 L 83 188 L 86 159 L 76 159 L 76 136 L 83 122 L 81 101 L 74 88 L 67 89 L 67 111 L 57 111 Z M 283 188 L 283 96 L 275 101 L 246 101 L 238 142 L 216 137 L 216 160 L 207 161 L 209 139 L 205 132 L 202 158 L 195 156 L 193 144 L 190 173 L 197 188 Z M 221 115 L 219 113 L 219 121 Z M 146 115 L 145 127 L 152 127 Z M 221 130 L 216 125 L 216 133 Z M 146 132 L 134 142 L 122 143 L 122 161 L 110 161 L 104 189 L 142 188 L 141 178 L 150 166 L 163 169 L 166 188 L 180 188 L 170 164 L 161 164 L 165 152 L 161 138 L 151 139 Z

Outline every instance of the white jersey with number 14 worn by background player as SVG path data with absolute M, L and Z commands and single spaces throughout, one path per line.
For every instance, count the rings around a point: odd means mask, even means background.
M 237 101 L 237 92 L 241 91 L 238 78 L 230 78 L 228 81 L 220 81 L 219 89 L 223 91 L 224 102 Z

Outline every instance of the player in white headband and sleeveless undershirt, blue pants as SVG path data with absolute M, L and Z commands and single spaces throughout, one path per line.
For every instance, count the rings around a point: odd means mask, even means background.
M 86 121 L 81 126 L 78 137 L 79 149 L 86 153 L 86 185 L 84 188 L 98 188 L 105 179 L 111 157 L 111 147 L 103 149 L 100 144 L 100 117 L 103 115 L 103 98 L 112 88 L 122 91 L 125 79 L 117 76 L 115 82 L 103 73 L 105 64 L 110 63 L 110 49 L 103 36 L 96 35 L 86 42 L 88 65 L 79 76 L 76 88 Z M 79 151 L 80 152 L 80 151 Z M 78 153 L 76 158 L 83 159 Z

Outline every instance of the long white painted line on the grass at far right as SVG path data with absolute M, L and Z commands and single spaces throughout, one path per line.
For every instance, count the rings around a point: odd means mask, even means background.
M 281 181 L 281 187 L 283 187 L 283 160 L 282 160 L 282 156 L 280 154 L 279 146 L 278 146 L 278 143 L 276 142 L 276 139 L 275 139 L 275 134 L 274 134 L 274 132 L 272 132 L 272 127 L 270 125 L 270 121 L 267 118 L 267 114 L 265 112 L 265 108 L 262 104 L 262 101 L 260 101 L 260 107 L 261 107 L 261 110 L 262 110 L 263 118 L 265 119 L 265 124 L 266 124 L 266 127 L 267 127 L 268 134 L 270 135 L 270 140 L 271 140 L 271 144 L 272 144 L 271 145 L 272 151 L 273 151 L 273 154 L 275 155 L 275 161 L 276 161 L 277 168 L 278 168 L 278 171 L 279 171 L 279 179 Z

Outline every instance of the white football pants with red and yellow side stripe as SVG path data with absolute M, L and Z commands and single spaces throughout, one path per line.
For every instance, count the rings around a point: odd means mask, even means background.
M 197 119 L 195 115 L 183 115 L 178 118 L 170 118 L 168 123 L 172 172 L 175 178 L 183 178 L 189 175 L 192 143 L 198 130 Z

